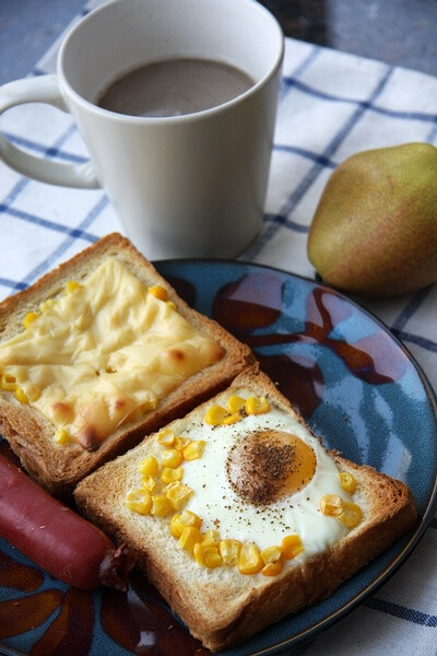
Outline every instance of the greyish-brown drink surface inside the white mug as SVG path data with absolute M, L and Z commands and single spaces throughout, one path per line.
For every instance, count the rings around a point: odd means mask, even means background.
M 249 75 L 221 61 L 168 59 L 118 78 L 97 105 L 130 116 L 179 116 L 222 105 L 252 85 Z

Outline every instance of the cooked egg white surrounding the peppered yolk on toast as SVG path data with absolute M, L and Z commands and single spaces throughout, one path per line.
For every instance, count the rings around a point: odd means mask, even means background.
M 241 390 L 238 395 L 249 396 Z M 314 449 L 317 459 L 315 475 L 304 489 L 263 506 L 241 500 L 226 476 L 226 459 L 236 441 L 260 430 L 297 435 Z M 185 425 L 184 434 L 206 443 L 201 458 L 184 464 L 184 483 L 194 492 L 187 508 L 202 518 L 202 530 L 216 528 L 222 539 L 256 542 L 261 550 L 281 544 L 285 535 L 297 534 L 305 547 L 302 558 L 324 550 L 347 532 L 340 522 L 319 509 L 324 494 L 351 499 L 340 485 L 336 465 L 319 441 L 293 417 L 271 409 L 231 425 L 211 426 L 199 420 L 189 427 Z

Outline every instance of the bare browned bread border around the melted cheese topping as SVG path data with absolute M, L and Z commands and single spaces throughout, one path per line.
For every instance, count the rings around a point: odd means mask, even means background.
M 218 324 L 190 308 L 134 246 L 117 233 L 99 239 L 31 288 L 3 301 L 0 304 L 0 341 L 21 332 L 26 314 L 37 309 L 46 298 L 59 294 L 67 281 L 80 282 L 109 256 L 121 260 L 145 285 L 164 286 L 178 312 L 198 330 L 215 339 L 224 348 L 225 355 L 188 378 L 163 399 L 156 410 L 118 429 L 94 453 L 84 450 L 78 444 L 56 444 L 52 440 L 54 425 L 38 410 L 19 403 L 11 393 L 0 390 L 0 432 L 33 478 L 61 496 L 71 493 L 76 482 L 96 467 L 138 444 L 145 434 L 181 417 L 201 400 L 226 387 L 253 362 L 246 345 Z

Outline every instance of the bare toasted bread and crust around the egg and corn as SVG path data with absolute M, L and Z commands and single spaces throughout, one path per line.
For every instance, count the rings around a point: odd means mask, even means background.
M 298 417 L 273 383 L 255 366 L 237 377 L 231 389 L 244 386 Z M 210 400 L 208 405 L 211 405 Z M 204 413 L 206 405 L 194 413 Z M 302 418 L 299 421 L 305 425 Z M 184 422 L 184 420 L 181 420 Z M 180 431 L 181 422 L 177 422 Z M 176 429 L 175 429 L 176 430 Z M 213 652 L 241 643 L 267 625 L 330 596 L 399 536 L 413 527 L 416 507 L 409 488 L 368 466 L 355 465 L 332 453 L 341 471 L 357 481 L 356 503 L 364 518 L 344 538 L 274 577 L 243 576 L 235 567 L 200 569 L 193 559 L 160 529 L 147 532 L 123 511 L 129 481 L 144 457 L 144 441 L 129 454 L 84 479 L 74 496 L 80 511 L 117 542 L 130 546 L 138 566 L 157 587 L 190 632 Z M 110 485 L 109 485 L 110 481 Z

